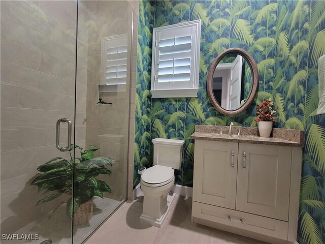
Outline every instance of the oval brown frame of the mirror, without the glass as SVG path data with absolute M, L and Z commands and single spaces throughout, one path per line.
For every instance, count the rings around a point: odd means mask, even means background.
M 235 110 L 226 110 L 224 108 L 221 107 L 221 105 L 217 102 L 217 100 L 214 97 L 213 94 L 213 89 L 212 89 L 212 79 L 213 79 L 213 74 L 214 74 L 214 70 L 217 67 L 218 63 L 220 62 L 220 60 L 229 53 L 233 53 L 236 52 L 238 54 L 240 54 L 241 56 L 243 56 L 249 67 L 250 67 L 250 71 L 252 73 L 252 87 L 249 93 L 249 96 L 247 98 L 247 100 L 245 101 L 245 103 L 239 107 L 238 109 Z M 224 114 L 224 115 L 230 115 L 230 116 L 235 116 L 237 114 L 242 113 L 243 111 L 245 111 L 245 109 L 247 109 L 247 107 L 253 102 L 254 97 L 257 93 L 257 87 L 258 87 L 258 69 L 257 69 L 257 65 L 255 63 L 255 60 L 253 59 L 253 57 L 245 50 L 240 49 L 240 48 L 229 48 L 224 50 L 223 52 L 221 52 L 212 62 L 212 65 L 210 67 L 209 70 L 209 74 L 208 74 L 208 78 L 207 78 L 207 92 L 208 92 L 208 96 L 210 99 L 210 102 L 212 103 L 213 107 L 218 110 L 220 113 Z

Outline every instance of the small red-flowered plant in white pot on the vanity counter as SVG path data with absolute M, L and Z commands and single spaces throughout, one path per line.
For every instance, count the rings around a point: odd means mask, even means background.
M 273 104 L 272 99 L 264 99 L 261 105 L 256 106 L 257 118 L 254 121 L 258 122 L 258 131 L 261 137 L 270 137 L 273 122 L 277 119 L 276 111 L 272 108 Z

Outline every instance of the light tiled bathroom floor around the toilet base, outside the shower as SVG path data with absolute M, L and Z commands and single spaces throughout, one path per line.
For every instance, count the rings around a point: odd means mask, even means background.
M 143 197 L 125 202 L 86 242 L 267 244 L 262 241 L 191 223 L 192 199 L 176 196 L 161 228 L 141 223 Z

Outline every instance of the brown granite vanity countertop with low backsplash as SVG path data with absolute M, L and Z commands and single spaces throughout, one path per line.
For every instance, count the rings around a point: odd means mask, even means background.
M 220 128 L 222 135 L 220 135 Z M 242 135 L 237 136 L 237 132 L 241 129 Z M 228 135 L 228 126 L 198 126 L 196 125 L 191 139 L 209 140 L 209 141 L 225 141 L 225 142 L 242 142 L 252 144 L 279 145 L 279 146 L 304 146 L 304 131 L 288 130 L 274 128 L 271 136 L 259 137 L 257 127 L 239 127 L 233 126 L 233 135 Z M 286 140 L 284 140 L 285 138 Z

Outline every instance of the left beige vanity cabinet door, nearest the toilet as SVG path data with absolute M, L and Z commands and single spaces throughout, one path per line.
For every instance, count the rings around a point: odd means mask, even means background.
M 238 143 L 196 140 L 193 201 L 235 209 Z

